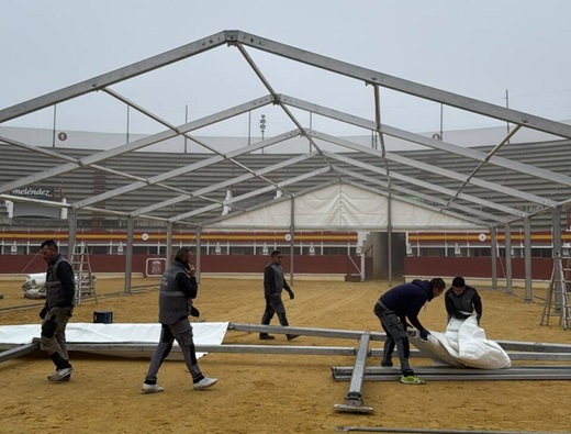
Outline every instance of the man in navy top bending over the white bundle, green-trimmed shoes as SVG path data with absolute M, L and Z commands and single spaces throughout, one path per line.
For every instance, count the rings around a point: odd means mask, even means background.
M 446 283 L 439 277 L 428 280 L 413 280 L 399 285 L 383 293 L 374 304 L 374 314 L 379 318 L 387 333 L 381 366 L 392 366 L 392 353 L 396 352 L 401 360 L 401 382 L 406 385 L 424 385 L 425 381 L 414 375 L 408 364 L 411 346 L 407 326 L 414 326 L 426 341 L 429 332 L 418 321 L 418 312 L 427 302 L 443 293 Z

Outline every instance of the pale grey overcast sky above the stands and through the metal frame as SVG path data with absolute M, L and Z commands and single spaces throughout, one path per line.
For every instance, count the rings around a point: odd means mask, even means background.
M 3 0 L 0 109 L 224 30 L 242 30 L 499 105 L 506 105 L 507 90 L 513 109 L 569 120 L 570 16 L 569 0 Z M 373 119 L 373 93 L 362 82 L 247 51 L 277 92 Z M 268 93 L 239 52 L 226 46 L 113 89 L 175 124 Z M 103 92 L 82 100 L 58 105 L 58 129 L 125 130 L 124 105 Z M 414 132 L 440 127 L 439 104 L 391 91 L 381 91 L 381 100 L 384 123 Z M 267 110 L 267 134 L 294 127 L 275 114 L 279 108 Z M 260 113 L 204 133 L 259 133 Z M 356 133 L 295 114 L 304 125 Z M 448 108 L 441 120 L 445 130 L 499 125 Z M 4 125 L 52 124 L 53 109 L 46 109 Z M 164 129 L 137 114 L 130 114 L 128 127 Z

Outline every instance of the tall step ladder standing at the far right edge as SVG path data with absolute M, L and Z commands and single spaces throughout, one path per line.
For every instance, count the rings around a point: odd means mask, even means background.
M 549 325 L 550 316 L 558 316 L 563 330 L 571 327 L 571 257 L 559 254 L 553 258 L 553 271 L 539 325 Z

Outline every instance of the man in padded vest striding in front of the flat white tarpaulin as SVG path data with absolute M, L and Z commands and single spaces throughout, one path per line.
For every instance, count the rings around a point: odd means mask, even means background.
M 148 367 L 143 393 L 157 393 L 165 390 L 157 383 L 157 374 L 165 358 L 172 349 L 175 340 L 180 346 L 187 368 L 192 377 L 194 389 L 206 389 L 217 382 L 216 378 L 204 377 L 199 368 L 192 325 L 189 315 L 199 316 L 192 300 L 197 298 L 199 286 L 194 277 L 195 269 L 191 263 L 192 254 L 188 248 L 177 252 L 175 261 L 167 268 L 160 279 L 158 297 L 158 321 L 160 322 L 160 342 L 158 343 Z

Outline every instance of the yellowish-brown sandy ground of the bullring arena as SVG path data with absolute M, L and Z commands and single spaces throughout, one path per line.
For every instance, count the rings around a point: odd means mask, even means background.
M 1 324 L 40 321 L 37 304 L 21 293 L 21 280 L 0 281 Z M 156 322 L 156 280 L 134 280 L 146 290 L 123 296 L 123 280 L 97 283 L 99 302 L 83 301 L 72 321 L 91 322 L 94 310 L 113 312 L 115 323 Z M 287 300 L 290 323 L 298 326 L 380 331 L 372 307 L 383 282 L 296 281 Z M 260 280 L 203 280 L 197 307 L 206 321 L 257 324 L 264 310 Z M 526 303 L 501 290 L 480 290 L 482 326 L 492 340 L 570 343 L 571 332 L 539 326 L 542 304 Z M 275 320 L 276 321 L 276 320 Z M 422 311 L 421 321 L 443 331 L 441 298 Z M 257 334 L 228 331 L 224 343 L 356 346 L 357 342 L 302 336 L 260 342 Z M 382 344 L 373 342 L 372 347 Z M 363 401 L 372 414 L 334 411 L 349 385 L 332 379 L 331 367 L 352 366 L 354 357 L 209 354 L 204 374 L 220 379 L 204 391 L 191 387 L 182 361 L 167 361 L 159 372 L 164 393 L 142 394 L 148 359 L 72 353 L 76 368 L 68 383 L 51 383 L 44 354 L 0 364 L 1 433 L 329 433 L 336 426 L 429 430 L 571 432 L 571 381 L 433 381 L 425 386 L 366 382 Z M 370 357 L 368 365 L 378 365 Z M 416 365 L 428 360 L 413 359 Z

